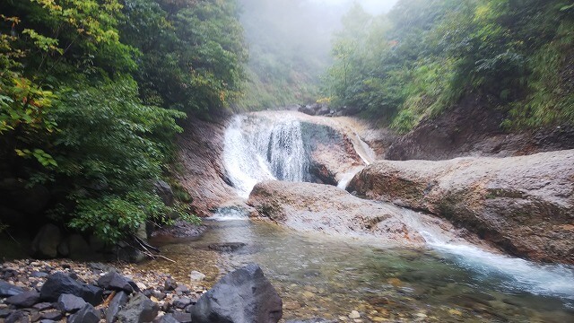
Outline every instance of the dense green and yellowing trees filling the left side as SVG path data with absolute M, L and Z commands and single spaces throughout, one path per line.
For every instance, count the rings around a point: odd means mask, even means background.
M 239 96 L 237 4 L 5 0 L 0 13 L 3 183 L 48 188 L 53 221 L 108 241 L 185 214 L 153 185 L 170 173 L 177 120 Z

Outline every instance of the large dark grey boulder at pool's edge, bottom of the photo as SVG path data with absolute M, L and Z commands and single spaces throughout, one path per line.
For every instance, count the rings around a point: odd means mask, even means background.
M 283 301 L 256 264 L 225 275 L 191 308 L 194 323 L 276 323 Z

